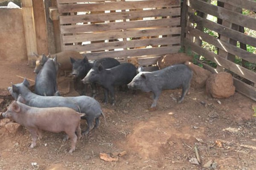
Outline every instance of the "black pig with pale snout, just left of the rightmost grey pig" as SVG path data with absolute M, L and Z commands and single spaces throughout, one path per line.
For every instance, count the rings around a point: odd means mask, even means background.
M 111 103 L 115 104 L 114 87 L 126 85 L 136 76 L 137 69 L 131 63 L 122 63 L 113 68 L 105 69 L 101 64 L 90 69 L 82 79 L 84 84 L 96 82 L 104 88 L 104 102 L 108 103 L 108 92 L 111 95 Z

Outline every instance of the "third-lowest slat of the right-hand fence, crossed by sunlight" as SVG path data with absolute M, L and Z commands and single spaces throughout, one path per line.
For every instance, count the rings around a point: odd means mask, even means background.
M 234 45 L 231 45 L 228 42 L 224 42 L 222 40 L 219 40 L 215 37 L 212 37 L 206 33 L 203 33 L 199 30 L 196 30 L 195 28 L 192 27 L 187 27 L 187 31 L 189 34 L 191 34 L 193 37 L 200 38 L 203 41 L 206 41 L 215 47 L 218 47 L 228 53 L 234 54 L 238 57 L 241 57 L 242 59 L 245 59 L 249 62 L 256 62 L 256 55 L 252 54 L 248 51 L 245 51 L 241 48 L 237 48 Z

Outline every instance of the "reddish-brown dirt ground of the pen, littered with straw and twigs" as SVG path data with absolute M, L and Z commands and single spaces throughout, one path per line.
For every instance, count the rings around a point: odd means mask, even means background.
M 10 82 L 22 82 L 22 77 L 34 80 L 32 71 L 26 62 L 0 63 L 0 88 L 4 91 Z M 59 84 L 62 94 L 67 92 L 67 82 Z M 29 149 L 31 137 L 26 128 L 13 134 L 0 127 L 0 170 L 255 170 L 252 107 L 256 102 L 237 92 L 228 99 L 213 99 L 204 89 L 191 88 L 177 104 L 180 91 L 163 91 L 157 111 L 148 110 L 152 94 L 117 91 L 115 106 L 101 103 L 106 123 L 101 118 L 99 128 L 83 136 L 72 154 L 68 153 L 70 141 L 62 142 L 64 133 L 44 132 L 37 146 Z M 5 99 L 1 112 L 12 98 L 0 98 Z M 102 98 L 100 90 L 96 99 Z M 82 120 L 81 128 L 85 127 Z M 192 164 L 195 147 L 201 164 Z M 127 154 L 118 156 L 122 151 Z M 118 160 L 104 161 L 99 153 Z

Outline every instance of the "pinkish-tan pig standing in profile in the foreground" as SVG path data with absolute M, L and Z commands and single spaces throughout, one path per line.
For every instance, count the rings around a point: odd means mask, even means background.
M 30 131 L 32 136 L 30 148 L 35 147 L 37 135 L 39 139 L 42 139 L 42 130 L 54 133 L 64 131 L 67 136 L 63 140 L 71 139 L 69 153 L 75 150 L 77 138 L 81 138 L 81 116 L 85 116 L 85 114 L 78 113 L 71 108 L 35 108 L 18 101 L 13 101 L 7 111 L 3 113 L 4 118 L 12 119 Z

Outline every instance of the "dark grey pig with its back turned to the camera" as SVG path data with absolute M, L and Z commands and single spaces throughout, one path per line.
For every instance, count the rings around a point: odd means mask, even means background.
M 35 94 L 41 96 L 59 95 L 57 87 L 57 56 L 53 59 L 43 55 L 44 66 L 35 77 Z

